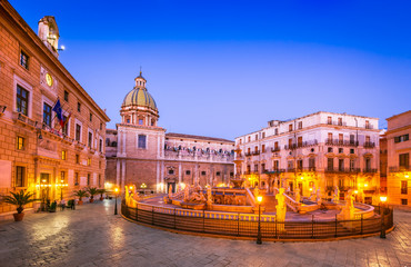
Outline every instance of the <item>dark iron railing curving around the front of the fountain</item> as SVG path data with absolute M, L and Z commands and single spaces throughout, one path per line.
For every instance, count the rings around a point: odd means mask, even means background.
M 354 220 L 319 220 L 312 216 L 303 221 L 278 221 L 275 216 L 261 215 L 261 236 L 264 239 L 330 239 L 338 237 L 378 234 L 393 227 L 393 212 L 384 208 L 384 215 L 371 218 L 358 216 Z M 375 209 L 379 214 L 380 209 Z M 128 219 L 159 228 L 183 233 L 255 238 L 258 215 L 218 212 L 156 207 L 138 204 L 136 208 L 121 205 L 121 212 Z

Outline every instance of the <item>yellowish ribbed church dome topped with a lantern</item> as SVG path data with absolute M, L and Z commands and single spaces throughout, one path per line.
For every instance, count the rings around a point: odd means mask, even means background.
M 146 79 L 141 76 L 136 78 L 136 87 L 126 95 L 121 107 L 140 106 L 148 107 L 157 111 L 157 105 L 152 96 L 147 91 Z

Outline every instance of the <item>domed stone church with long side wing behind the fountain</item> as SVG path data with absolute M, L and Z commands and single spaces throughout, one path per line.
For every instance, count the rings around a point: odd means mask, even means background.
M 181 184 L 229 184 L 234 142 L 167 134 L 158 126 L 159 110 L 141 72 L 134 81 L 121 105 L 121 122 L 107 130 L 107 187 L 123 190 L 136 185 L 139 190 L 166 192 Z

